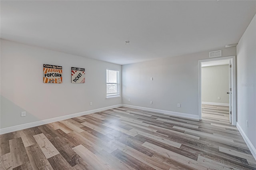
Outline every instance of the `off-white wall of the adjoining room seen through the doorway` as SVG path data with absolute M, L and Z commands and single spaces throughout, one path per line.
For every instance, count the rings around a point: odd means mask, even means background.
M 202 67 L 202 102 L 229 103 L 227 92 L 229 65 Z

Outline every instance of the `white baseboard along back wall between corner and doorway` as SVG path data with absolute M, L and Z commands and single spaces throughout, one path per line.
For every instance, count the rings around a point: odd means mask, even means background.
M 140 106 L 134 106 L 134 105 L 124 105 L 123 104 L 122 106 L 132 108 L 132 109 L 140 109 L 140 110 L 144 110 L 144 111 L 158 112 L 158 113 L 164 113 L 164 114 L 172 115 L 172 116 L 185 117 L 185 118 L 199 120 L 198 115 L 190 115 L 190 114 L 186 114 L 186 113 L 179 113 L 179 112 L 165 111 L 165 110 L 159 110 L 159 109 L 152 109 L 152 108 L 148 108 L 148 107 L 140 107 Z

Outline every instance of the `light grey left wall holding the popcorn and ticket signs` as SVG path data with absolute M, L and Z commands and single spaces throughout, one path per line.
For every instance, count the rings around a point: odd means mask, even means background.
M 43 83 L 43 64 L 62 66 L 63 83 Z M 71 83 L 71 67 L 86 69 L 84 84 Z M 106 99 L 106 68 L 121 71 L 121 65 L 1 40 L 0 128 L 121 104 L 121 97 Z

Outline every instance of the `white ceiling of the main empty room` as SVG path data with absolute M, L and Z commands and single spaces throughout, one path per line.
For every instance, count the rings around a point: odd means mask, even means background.
M 245 0 L 0 3 L 1 38 L 121 65 L 238 43 L 256 13 Z

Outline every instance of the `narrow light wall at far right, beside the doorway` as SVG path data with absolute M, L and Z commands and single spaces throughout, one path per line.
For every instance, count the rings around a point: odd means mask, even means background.
M 237 122 L 256 148 L 256 16 L 237 45 Z

